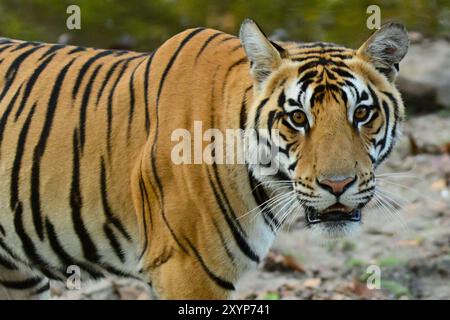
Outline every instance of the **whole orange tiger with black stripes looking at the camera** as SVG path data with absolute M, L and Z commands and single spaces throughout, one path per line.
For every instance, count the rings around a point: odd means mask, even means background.
M 397 22 L 354 50 L 250 19 L 150 53 L 1 38 L 0 292 L 48 299 L 78 268 L 82 284 L 230 299 L 289 219 L 352 233 L 401 134 L 408 46 Z M 173 133 L 199 121 L 240 130 L 244 161 L 176 164 Z

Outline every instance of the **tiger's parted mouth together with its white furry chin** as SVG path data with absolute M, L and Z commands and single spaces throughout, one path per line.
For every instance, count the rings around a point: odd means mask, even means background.
M 359 208 L 347 213 L 341 211 L 321 213 L 311 208 L 305 210 L 305 220 L 309 229 L 328 239 L 343 238 L 356 233 L 361 228 L 361 218 Z

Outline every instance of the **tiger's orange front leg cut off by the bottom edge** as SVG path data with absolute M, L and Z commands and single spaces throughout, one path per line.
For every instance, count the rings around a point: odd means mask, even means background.
M 160 299 L 228 299 L 233 284 L 214 274 L 195 255 L 173 254 L 151 272 Z

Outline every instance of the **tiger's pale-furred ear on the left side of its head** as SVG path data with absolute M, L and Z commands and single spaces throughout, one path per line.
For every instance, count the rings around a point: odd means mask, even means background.
M 287 52 L 271 42 L 251 19 L 242 22 L 239 38 L 250 60 L 253 79 L 260 88 L 264 80 L 281 65 L 281 60 L 287 56 Z

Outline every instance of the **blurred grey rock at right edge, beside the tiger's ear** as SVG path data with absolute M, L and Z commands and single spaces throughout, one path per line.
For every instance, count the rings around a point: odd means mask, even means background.
M 397 85 L 409 111 L 450 109 L 450 43 L 446 40 L 411 43 L 400 63 Z

